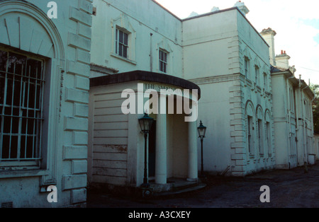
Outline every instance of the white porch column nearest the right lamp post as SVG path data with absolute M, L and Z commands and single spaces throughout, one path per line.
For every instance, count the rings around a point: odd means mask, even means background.
M 189 122 L 189 175 L 187 180 L 198 180 L 196 121 Z

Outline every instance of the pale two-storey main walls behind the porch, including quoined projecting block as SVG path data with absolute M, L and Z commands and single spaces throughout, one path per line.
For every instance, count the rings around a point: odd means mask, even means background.
M 245 18 L 247 7 L 240 4 L 245 13 L 234 7 L 181 20 L 155 1 L 94 1 L 94 6 L 96 35 L 92 50 L 96 53 L 91 59 L 92 77 L 138 69 L 159 72 L 158 52 L 165 49 L 169 57 L 167 74 L 201 87 L 197 124 L 202 119 L 208 127 L 204 170 L 240 176 L 274 168 L 269 49 Z M 127 10 L 135 7 L 143 10 L 138 14 Z M 149 19 L 148 11 L 153 11 L 158 19 Z M 115 53 L 116 28 L 129 34 L 128 58 L 119 58 Z M 99 30 L 103 32 L 98 36 Z M 245 58 L 250 60 L 248 67 Z M 248 104 L 252 107 L 252 124 L 255 126 L 258 118 L 262 124 L 260 141 L 256 139 L 256 127 L 252 132 L 253 153 L 247 152 Z M 198 167 L 200 154 L 198 149 Z

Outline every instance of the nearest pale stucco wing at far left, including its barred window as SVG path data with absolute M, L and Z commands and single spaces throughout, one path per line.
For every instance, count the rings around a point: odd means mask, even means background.
M 48 3 L 0 1 L 1 207 L 86 202 L 92 5 Z

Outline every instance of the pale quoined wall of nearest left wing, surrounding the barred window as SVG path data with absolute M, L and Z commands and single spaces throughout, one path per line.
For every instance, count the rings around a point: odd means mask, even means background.
M 1 49 L 36 54 L 45 66 L 43 141 L 35 169 L 0 170 L 1 204 L 13 207 L 83 205 L 91 57 L 91 0 L 0 1 Z M 48 18 L 56 9 L 57 18 Z M 4 147 L 3 147 L 4 148 Z M 0 164 L 5 164 L 1 160 Z M 47 187 L 57 187 L 57 203 Z

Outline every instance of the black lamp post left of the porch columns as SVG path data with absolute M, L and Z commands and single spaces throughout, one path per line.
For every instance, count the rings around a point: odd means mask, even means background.
M 145 158 L 144 158 L 144 179 L 141 187 L 150 187 L 148 183 L 148 175 L 147 175 L 147 134 L 150 132 L 150 129 L 152 127 L 153 118 L 149 117 L 146 113 L 144 117 L 138 119 L 138 122 L 140 123 L 140 129 L 142 133 L 144 134 L 145 139 Z

